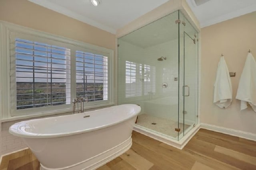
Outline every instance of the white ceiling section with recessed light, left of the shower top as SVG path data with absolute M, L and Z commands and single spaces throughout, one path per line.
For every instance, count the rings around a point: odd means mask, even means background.
M 97 7 L 90 0 L 29 1 L 115 34 L 117 29 L 168 0 L 100 0 Z

